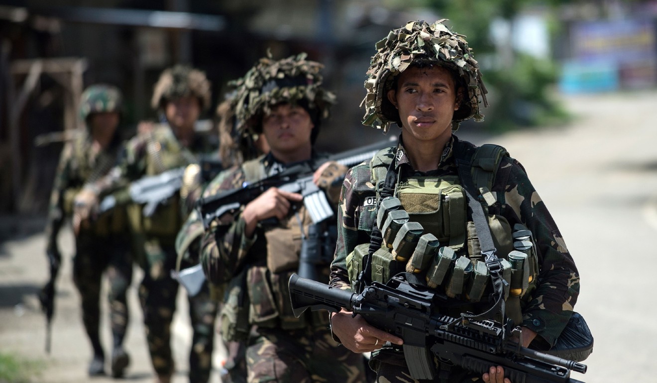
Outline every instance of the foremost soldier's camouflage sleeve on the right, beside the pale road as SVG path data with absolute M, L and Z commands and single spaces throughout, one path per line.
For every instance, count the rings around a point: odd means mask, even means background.
M 553 217 L 522 165 L 516 160 L 503 162 L 497 179 L 503 180 L 503 185 L 496 185 L 504 196 L 503 215 L 510 223 L 528 227 L 537 245 L 538 286 L 522 310 L 522 325 L 537 332 L 547 342 L 545 346 L 551 347 L 577 302 L 579 273 Z

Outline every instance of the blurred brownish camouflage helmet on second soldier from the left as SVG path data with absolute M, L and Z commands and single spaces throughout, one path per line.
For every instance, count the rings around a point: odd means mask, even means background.
M 179 64 L 160 74 L 160 79 L 153 87 L 150 106 L 155 110 L 164 109 L 166 102 L 186 96 L 196 97 L 201 110 L 210 108 L 210 81 L 205 73 Z

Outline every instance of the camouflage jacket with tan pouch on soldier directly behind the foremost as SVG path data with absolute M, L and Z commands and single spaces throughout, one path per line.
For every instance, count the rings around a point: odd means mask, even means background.
M 309 166 L 317 169 L 324 160 L 325 157 L 313 152 Z M 219 174 L 206 187 L 204 195 L 242 188 L 246 181 L 244 167 L 253 162 L 262 166 L 265 176 L 274 175 L 286 168 L 271 154 L 267 154 Z M 290 209 L 288 218 L 276 225 L 258 223 L 253 237 L 248 238 L 244 235 L 243 210 L 244 206 L 241 206 L 229 221 L 213 221 L 205 232 L 200 262 L 206 277 L 215 285 L 221 285 L 244 271 L 250 300 L 250 323 L 263 327 L 305 326 L 303 318 L 296 319 L 292 315 L 287 284 L 290 275 L 297 271 L 302 237 L 300 227 L 306 228 L 309 225 L 309 215 L 303 204 L 299 203 L 296 209 Z M 334 223 L 333 219 L 327 221 L 330 221 L 327 222 L 329 225 Z M 328 263 L 321 269 L 328 282 Z

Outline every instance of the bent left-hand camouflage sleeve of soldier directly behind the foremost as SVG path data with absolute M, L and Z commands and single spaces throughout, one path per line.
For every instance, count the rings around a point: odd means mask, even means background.
M 227 172 L 229 173 L 220 173 L 217 177 L 221 177 L 221 181 L 210 183 L 204 195 L 212 195 L 214 186 L 219 183 L 220 186 L 216 192 L 235 189 L 233 185 L 238 185 L 244 180 L 244 173 L 241 170 L 228 170 Z M 242 265 L 253 244 L 258 240 L 258 230 L 253 238 L 247 238 L 244 235 L 246 223 L 242 219 L 242 210 L 244 210 L 244 206 L 240 208 L 234 219 L 229 221 L 225 221 L 225 217 L 221 222 L 215 219 L 203 235 L 200 261 L 206 277 L 214 284 L 229 281 Z

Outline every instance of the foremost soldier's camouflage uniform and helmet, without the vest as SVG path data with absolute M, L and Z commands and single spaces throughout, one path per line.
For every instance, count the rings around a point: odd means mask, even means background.
M 409 43 L 396 50 L 397 41 L 400 43 L 409 41 Z M 429 51 L 426 47 L 422 48 L 424 45 L 428 46 L 429 42 L 436 43 L 436 49 L 440 53 Z M 399 46 L 401 47 L 401 45 Z M 478 99 L 483 98 L 485 88 L 481 82 L 476 61 L 472 58 L 463 36 L 452 34 L 442 22 L 432 25 L 409 22 L 405 28 L 395 30 L 394 33 L 388 35 L 387 39 L 380 41 L 377 48 L 378 53 L 374 56 L 368 72 L 371 79 L 365 85 L 369 91 L 363 102 L 367 109 L 365 124 L 387 130 L 392 122 L 400 123 L 399 113 L 391 108 L 392 104 L 385 97 L 393 83 L 394 76 L 390 74 L 399 74 L 416 60 L 445 66 L 455 71 L 456 76 L 465 78 L 464 82 L 470 85 L 466 88 L 470 96 L 468 97 L 469 101 L 466 99 L 461 104 L 461 108 L 455 112 L 453 130 L 456 129 L 459 121 L 472 116 L 476 120 L 483 118 L 478 110 Z M 413 54 L 405 52 L 404 49 L 413 51 Z M 424 49 L 427 53 L 423 53 Z M 388 56 L 391 53 L 395 56 L 394 58 Z M 419 57 L 414 57 L 414 54 Z M 440 59 L 436 57 L 440 57 Z M 456 63 L 455 66 L 450 66 L 450 57 Z M 390 68 L 388 66 L 391 65 L 390 63 L 395 68 Z M 389 77 L 386 78 L 382 74 Z M 384 96 L 381 97 L 381 95 Z M 443 149 L 438 167 L 432 171 L 420 172 L 411 166 L 403 148 L 403 137 L 401 137 L 395 166 L 397 174 L 399 174 L 397 185 L 403 185 L 409 177 L 422 175 L 439 179 L 446 179 L 450 176 L 458 177 L 455 147 L 474 148 L 474 145 L 459 141 L 452 134 Z M 390 148 L 387 155 L 394 156 L 395 149 L 397 148 Z M 368 202 L 373 197 L 376 198 L 372 176 L 371 166 L 367 162 L 351 168 L 344 179 L 338 211 L 338 242 L 335 259 L 331 266 L 330 284 L 333 286 L 351 289 L 346 265 L 347 256 L 358 244 L 370 242 L 373 225 L 376 221 L 376 206 L 372 206 Z M 530 299 L 526 300 L 522 306 L 522 323 L 520 325 L 528 327 L 538 334 L 532 347 L 548 349 L 555 344 L 572 315 L 579 294 L 578 270 L 555 222 L 518 161 L 508 157 L 501 160 L 491 192 L 497 194 L 497 203 L 489 206 L 487 213 L 505 217 L 510 226 L 522 223 L 532 231 L 535 238 L 539 260 L 539 284 L 533 290 Z M 469 217 L 468 221 L 471 220 L 472 218 Z M 467 255 L 470 256 L 470 254 Z M 452 313 L 452 315 L 458 317 L 459 313 Z M 397 346 L 386 346 L 375 351 L 370 364 L 377 370 L 378 382 L 418 382 L 411 378 L 403 351 Z M 481 378 L 480 374 L 472 374 L 455 367 L 450 370 L 440 363 L 438 368 L 445 371 L 441 381 L 471 382 Z

